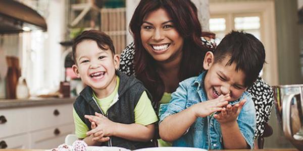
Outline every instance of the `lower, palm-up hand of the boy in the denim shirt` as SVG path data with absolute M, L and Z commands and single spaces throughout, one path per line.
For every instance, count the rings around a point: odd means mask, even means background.
M 221 113 L 215 114 L 214 118 L 216 118 L 221 125 L 236 121 L 245 102 L 246 99 L 243 99 L 240 103 L 235 104 L 234 106 L 228 104 L 226 108 L 222 109 Z

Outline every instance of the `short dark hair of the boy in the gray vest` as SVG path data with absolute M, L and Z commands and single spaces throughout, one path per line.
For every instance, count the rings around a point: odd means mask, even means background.
M 113 41 L 109 35 L 102 31 L 97 30 L 87 30 L 83 31 L 80 35 L 78 35 L 73 42 L 73 58 L 76 62 L 76 48 L 77 45 L 83 40 L 93 40 L 97 43 L 98 47 L 102 50 L 111 49 L 112 53 L 115 54 L 115 47 Z M 109 48 L 106 47 L 108 45 Z

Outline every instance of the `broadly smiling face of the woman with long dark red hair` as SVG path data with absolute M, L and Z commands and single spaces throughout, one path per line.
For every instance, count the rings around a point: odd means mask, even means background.
M 146 15 L 141 25 L 141 41 L 146 51 L 159 62 L 171 62 L 182 57 L 183 37 L 164 9 Z

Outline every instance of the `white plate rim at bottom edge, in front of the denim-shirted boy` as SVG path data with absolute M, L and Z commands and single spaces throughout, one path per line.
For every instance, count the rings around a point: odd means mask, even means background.
M 193 147 L 149 147 L 136 149 L 134 151 L 207 151 L 206 149 Z

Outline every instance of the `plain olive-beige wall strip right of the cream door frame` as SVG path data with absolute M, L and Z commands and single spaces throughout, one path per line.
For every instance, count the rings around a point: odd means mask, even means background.
M 297 1 L 276 0 L 279 84 L 301 84 Z

